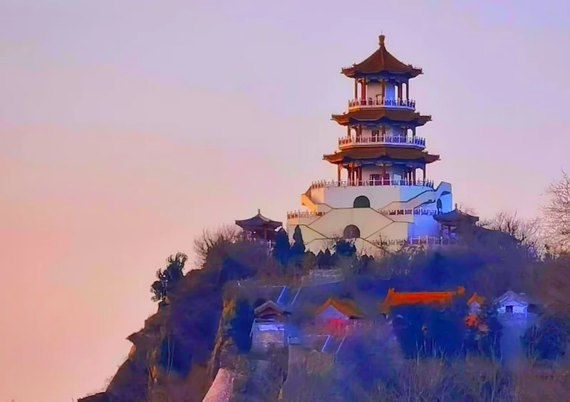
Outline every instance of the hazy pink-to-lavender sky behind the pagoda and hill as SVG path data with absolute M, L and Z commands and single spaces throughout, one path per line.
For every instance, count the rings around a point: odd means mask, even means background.
M 0 401 L 100 391 L 204 227 L 286 220 L 385 34 L 482 217 L 570 170 L 570 2 L 0 0 Z

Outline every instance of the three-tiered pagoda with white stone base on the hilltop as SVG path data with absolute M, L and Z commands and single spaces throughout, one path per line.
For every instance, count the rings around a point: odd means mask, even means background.
M 339 237 L 361 251 L 439 237 L 433 217 L 452 210 L 452 194 L 450 183 L 435 186 L 427 177 L 427 165 L 440 156 L 416 135 L 432 120 L 410 98 L 410 81 L 422 69 L 395 58 L 380 35 L 371 56 L 341 73 L 354 81 L 354 98 L 344 113 L 332 115 L 346 134 L 338 150 L 323 155 L 336 165 L 336 180 L 313 182 L 301 195 L 306 210 L 288 213 L 289 237 L 301 227 L 314 252 Z

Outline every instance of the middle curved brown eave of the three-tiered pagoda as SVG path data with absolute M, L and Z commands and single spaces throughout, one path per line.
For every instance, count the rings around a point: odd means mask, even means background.
M 409 123 L 416 127 L 432 120 L 430 115 L 420 115 L 413 110 L 393 110 L 386 108 L 353 110 L 341 115 L 332 115 L 332 120 L 340 125 L 359 123 Z

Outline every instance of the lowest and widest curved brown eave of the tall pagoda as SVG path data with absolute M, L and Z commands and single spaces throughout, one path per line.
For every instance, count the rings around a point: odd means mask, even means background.
M 329 163 L 349 163 L 354 160 L 403 160 L 405 162 L 433 163 L 440 160 L 440 155 L 432 155 L 418 149 L 395 147 L 347 148 L 336 153 L 323 155 Z

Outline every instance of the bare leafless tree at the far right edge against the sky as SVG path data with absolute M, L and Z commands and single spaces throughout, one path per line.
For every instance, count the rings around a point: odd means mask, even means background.
M 542 207 L 546 239 L 554 252 L 570 252 L 570 176 L 563 171 L 546 194 L 550 196 L 549 204 Z

